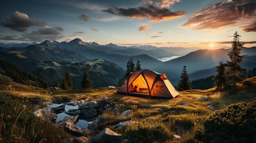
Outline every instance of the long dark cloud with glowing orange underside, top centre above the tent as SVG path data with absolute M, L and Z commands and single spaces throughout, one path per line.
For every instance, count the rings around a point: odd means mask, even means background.
M 153 5 L 148 5 L 148 6 L 139 7 L 139 8 L 128 8 L 128 9 L 118 8 L 114 6 L 109 9 L 105 9 L 103 11 L 111 14 L 115 14 L 115 15 L 121 15 L 121 16 L 130 17 L 130 18 L 137 18 L 139 20 L 144 18 L 149 18 L 148 20 L 149 22 L 166 21 L 166 20 L 171 20 L 173 18 L 178 18 L 185 15 L 183 11 L 171 12 L 166 8 L 159 8 Z

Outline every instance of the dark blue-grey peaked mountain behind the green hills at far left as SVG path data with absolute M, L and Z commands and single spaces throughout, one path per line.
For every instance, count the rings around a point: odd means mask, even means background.
M 24 58 L 35 59 L 37 61 L 85 62 L 88 60 L 88 58 L 79 53 L 67 51 L 60 46 L 52 44 L 52 42 L 48 40 L 45 40 L 40 44 L 29 45 L 23 48 L 8 48 L 6 50 L 9 53 L 17 53 Z

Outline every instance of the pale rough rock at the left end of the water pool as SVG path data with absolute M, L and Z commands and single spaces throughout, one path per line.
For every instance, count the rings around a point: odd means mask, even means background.
M 38 109 L 33 112 L 33 114 L 35 114 L 37 117 L 43 117 L 44 119 L 49 119 L 51 121 L 55 121 L 57 119 L 57 115 L 52 113 L 48 108 Z

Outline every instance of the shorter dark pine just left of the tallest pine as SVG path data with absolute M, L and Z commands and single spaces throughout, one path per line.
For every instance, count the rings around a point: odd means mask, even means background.
M 222 62 L 222 60 L 219 62 L 220 64 L 216 66 L 216 76 L 213 78 L 214 80 L 214 86 L 217 87 L 220 91 L 222 91 L 222 87 L 227 86 L 227 73 L 226 73 L 226 67 L 225 64 Z

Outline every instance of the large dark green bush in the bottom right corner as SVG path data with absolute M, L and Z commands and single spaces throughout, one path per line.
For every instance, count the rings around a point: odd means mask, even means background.
M 197 127 L 195 138 L 204 143 L 255 143 L 256 101 L 218 110 Z

